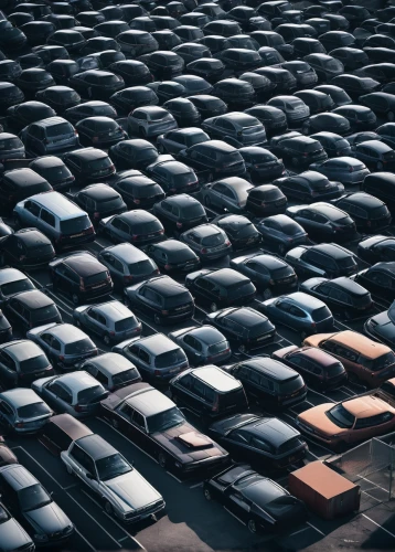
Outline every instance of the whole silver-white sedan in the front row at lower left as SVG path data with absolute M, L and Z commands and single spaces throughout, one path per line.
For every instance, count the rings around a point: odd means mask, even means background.
M 124 522 L 154 519 L 166 506 L 162 496 L 99 435 L 73 440 L 61 458 L 68 474 L 99 496 L 106 512 Z

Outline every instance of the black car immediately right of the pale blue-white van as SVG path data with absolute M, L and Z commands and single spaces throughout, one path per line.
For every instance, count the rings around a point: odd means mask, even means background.
M 106 216 L 127 211 L 122 197 L 107 184 L 89 184 L 70 195 L 88 214 L 94 224 Z

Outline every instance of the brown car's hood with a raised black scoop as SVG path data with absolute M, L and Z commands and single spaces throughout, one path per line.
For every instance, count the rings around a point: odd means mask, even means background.
M 157 433 L 152 437 L 183 464 L 226 454 L 214 440 L 188 423 Z

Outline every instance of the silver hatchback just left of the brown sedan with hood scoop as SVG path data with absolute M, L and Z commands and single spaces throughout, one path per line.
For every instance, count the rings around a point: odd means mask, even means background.
M 108 395 L 108 391 L 104 389 L 102 383 L 83 370 L 41 378 L 32 383 L 32 389 L 45 399 L 56 412 L 66 412 L 74 417 L 96 414 L 100 401 Z

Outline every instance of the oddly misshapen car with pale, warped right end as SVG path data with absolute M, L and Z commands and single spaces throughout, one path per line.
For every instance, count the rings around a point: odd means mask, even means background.
M 254 185 L 239 177 L 228 177 L 216 182 L 210 182 L 202 188 L 205 206 L 214 210 L 226 210 L 229 213 L 243 213 L 248 199 L 248 192 Z

